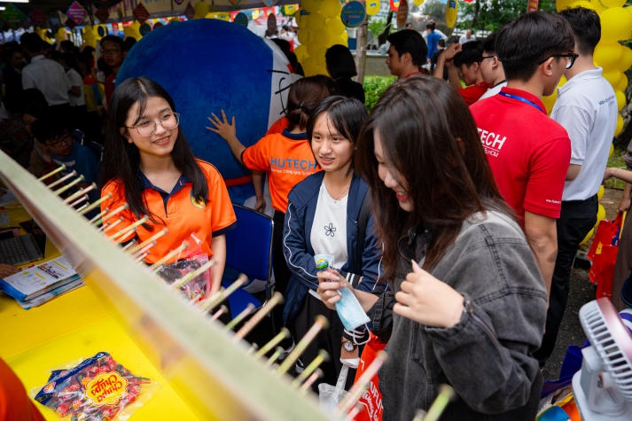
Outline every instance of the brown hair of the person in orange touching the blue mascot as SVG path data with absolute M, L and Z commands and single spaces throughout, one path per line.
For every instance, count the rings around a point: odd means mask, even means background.
M 285 116 L 289 121 L 288 129 L 305 129 L 309 115 L 324 98 L 338 93 L 336 83 L 324 74 L 304 77 L 290 86 L 287 93 Z

